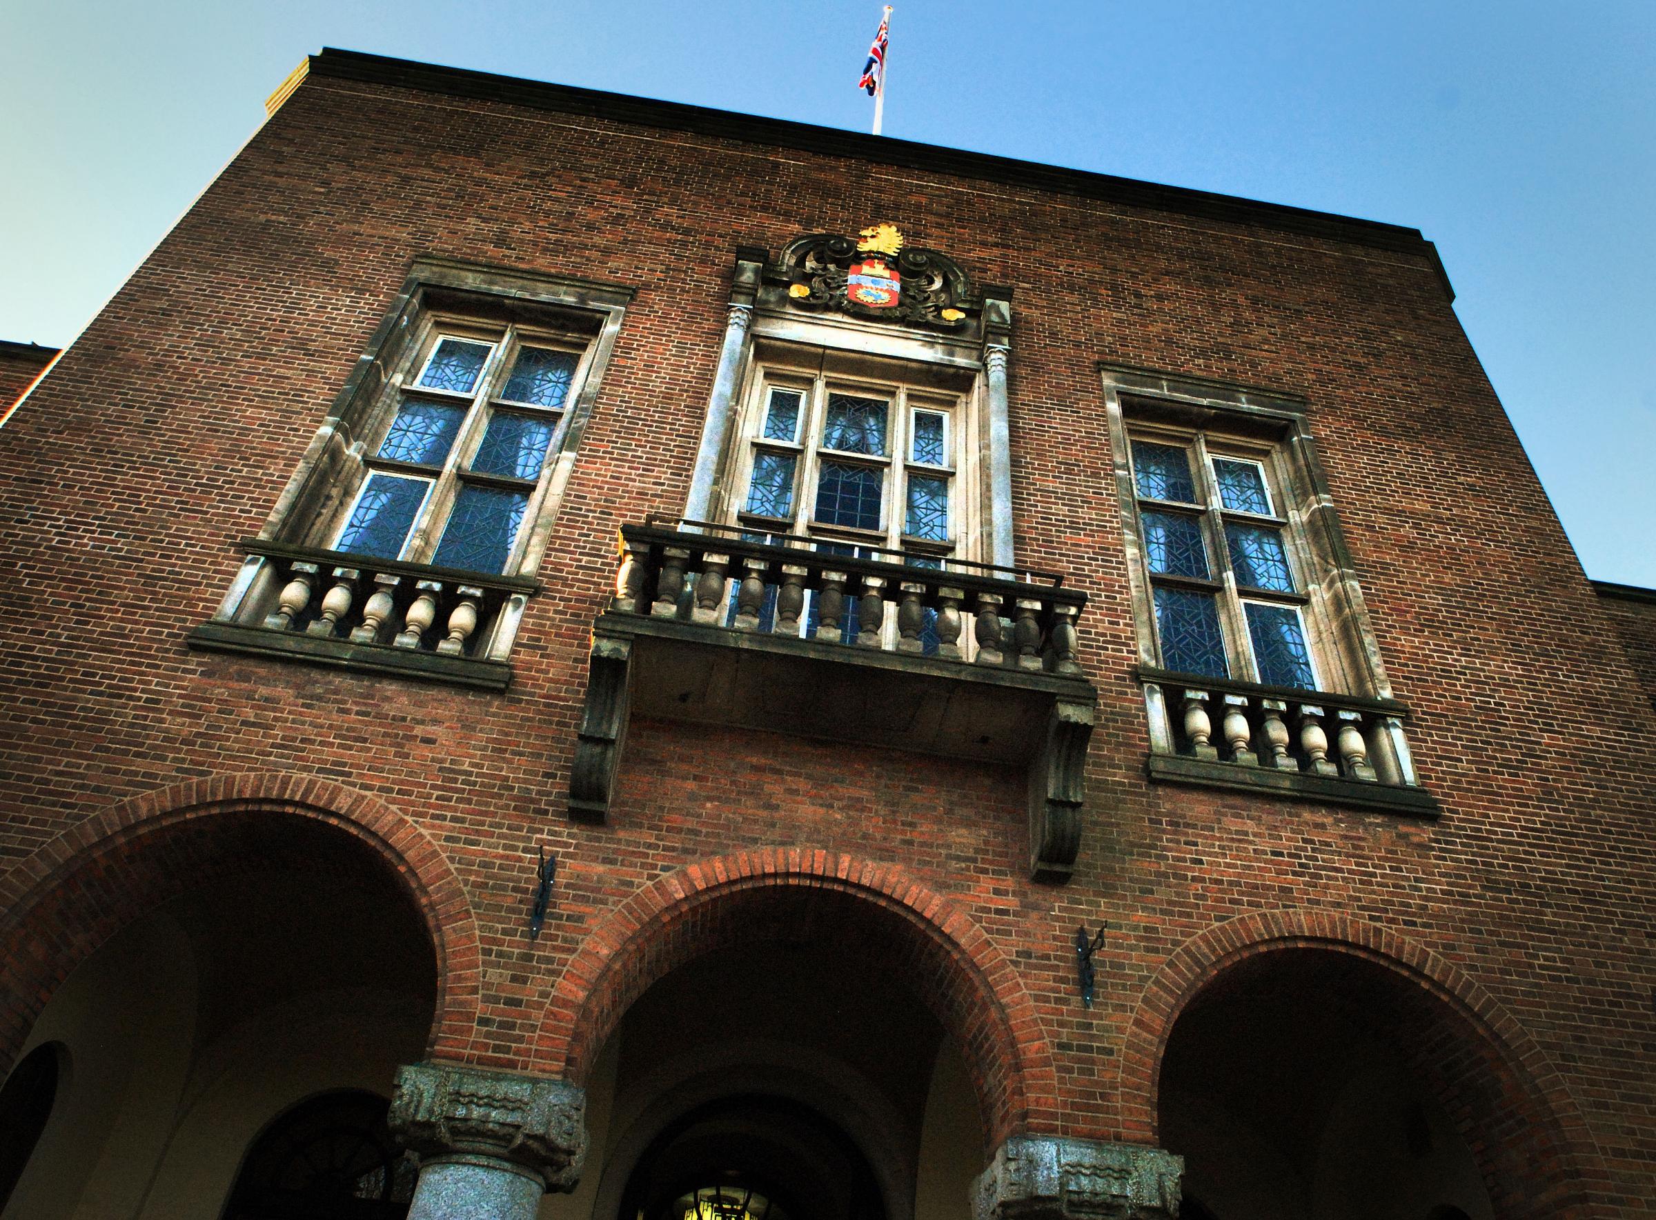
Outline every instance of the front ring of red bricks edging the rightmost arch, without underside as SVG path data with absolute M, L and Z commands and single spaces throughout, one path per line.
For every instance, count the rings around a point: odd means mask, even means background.
M 1124 1139 L 1146 1144 L 1158 1139 L 1161 1059 L 1191 1000 L 1249 958 L 1297 949 L 1365 958 L 1442 1003 L 1538 1102 L 1538 1117 L 1550 1127 L 1565 1162 L 1565 1180 L 1578 1190 L 1608 1180 L 1596 1141 L 1563 1076 L 1484 987 L 1419 942 L 1336 910 L 1239 915 L 1191 937 L 1167 957 L 1139 998 L 1126 1033 L 1118 1081 Z

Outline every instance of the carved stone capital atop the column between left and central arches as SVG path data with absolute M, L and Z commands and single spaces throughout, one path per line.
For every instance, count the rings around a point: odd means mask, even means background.
M 388 1122 L 422 1169 L 510 1169 L 543 1190 L 573 1190 L 586 1157 L 586 1091 L 565 1081 L 414 1063 L 397 1069 Z

